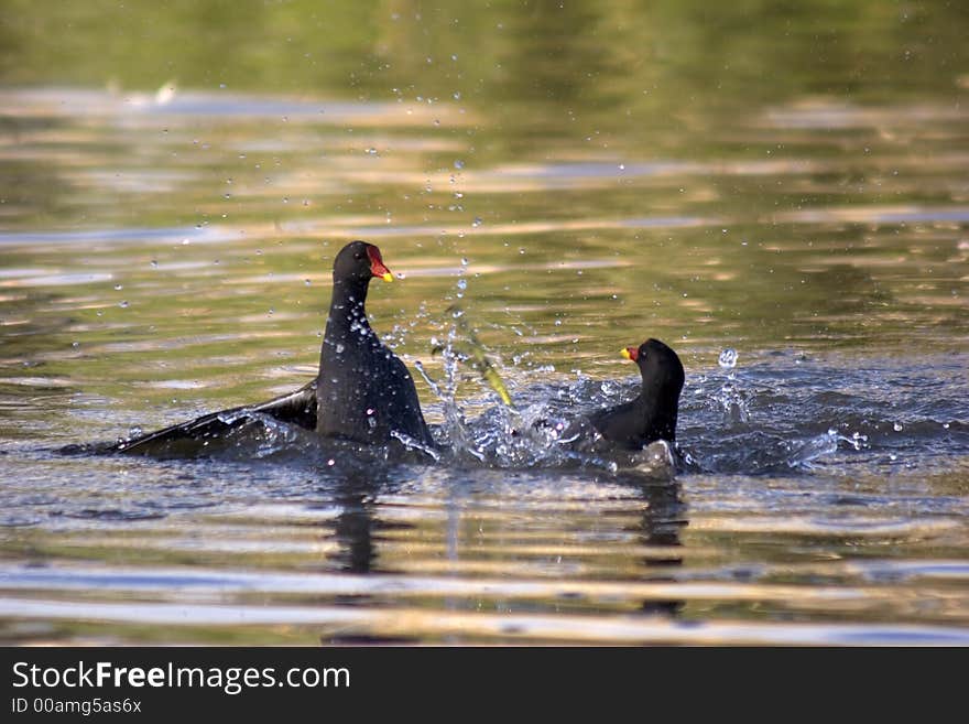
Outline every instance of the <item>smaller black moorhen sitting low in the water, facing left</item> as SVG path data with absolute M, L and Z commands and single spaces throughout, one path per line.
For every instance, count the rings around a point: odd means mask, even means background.
M 613 445 L 642 450 L 651 442 L 676 441 L 676 414 L 683 390 L 683 364 L 676 353 L 658 339 L 627 347 L 622 356 L 632 359 L 643 376 L 640 396 L 624 404 L 589 415 L 592 428 Z

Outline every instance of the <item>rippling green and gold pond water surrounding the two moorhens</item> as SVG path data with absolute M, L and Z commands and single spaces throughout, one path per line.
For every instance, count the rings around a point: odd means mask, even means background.
M 965 11 L 294 6 L 174 63 L 190 13 L 130 63 L 137 12 L 70 67 L 4 31 L 0 639 L 969 644 Z M 311 379 L 352 238 L 457 454 L 54 452 Z M 511 435 L 634 396 L 650 336 L 675 476 Z

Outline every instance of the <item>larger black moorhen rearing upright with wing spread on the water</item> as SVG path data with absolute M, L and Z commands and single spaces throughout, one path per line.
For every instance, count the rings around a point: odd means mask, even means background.
M 257 415 L 315 430 L 323 436 L 367 444 L 392 440 L 434 446 L 407 368 L 367 321 L 370 280 L 393 275 L 372 244 L 352 241 L 334 260 L 334 289 L 326 321 L 319 374 L 294 392 L 259 404 L 203 415 L 189 422 L 111 445 L 107 452 L 172 454 L 197 452 Z M 65 452 L 73 452 L 65 449 Z

